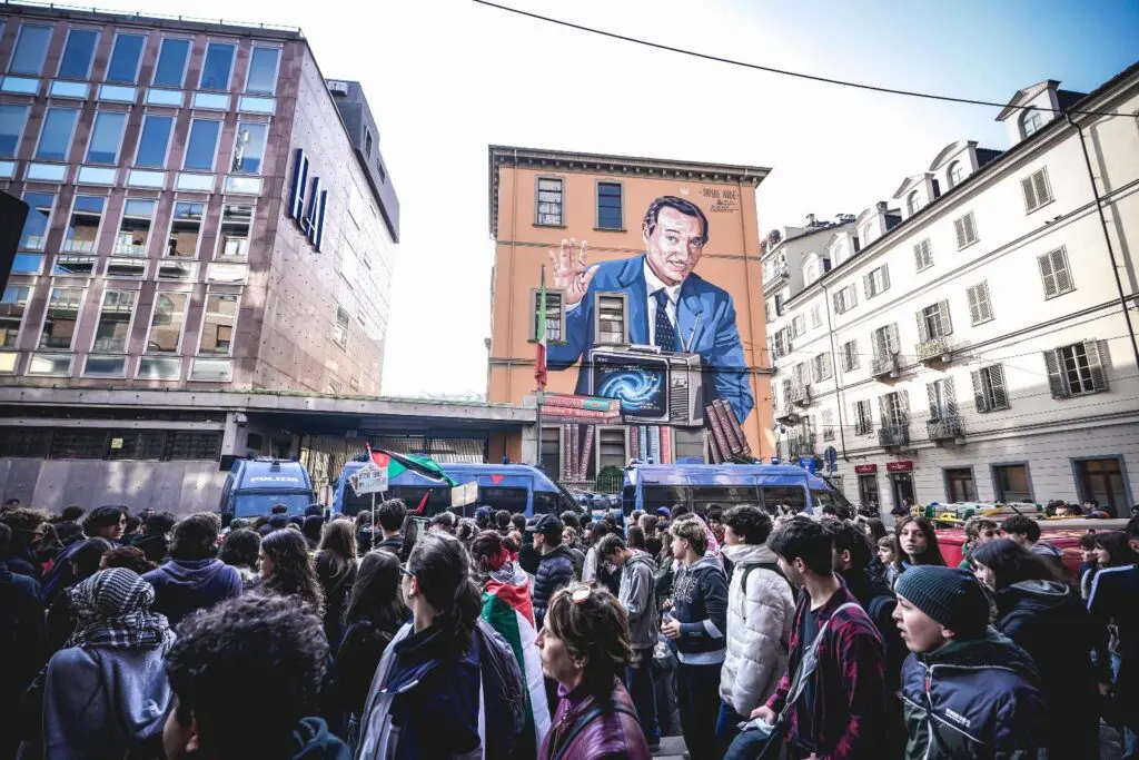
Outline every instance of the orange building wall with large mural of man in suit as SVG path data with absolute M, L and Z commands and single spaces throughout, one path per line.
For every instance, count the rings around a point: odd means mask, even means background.
M 540 444 L 492 436 L 492 460 L 587 482 L 631 458 L 771 456 L 754 191 L 767 173 L 491 146 L 487 399 L 542 412 Z

